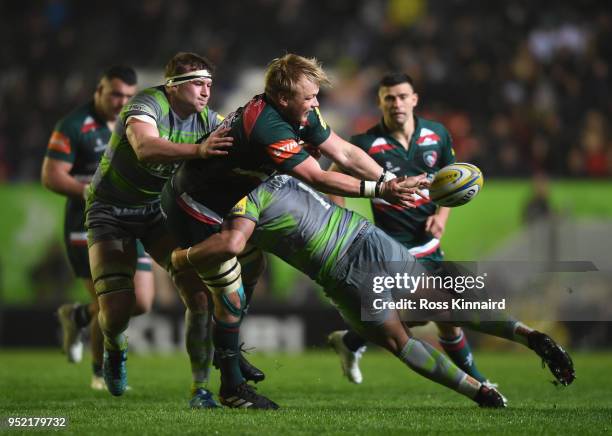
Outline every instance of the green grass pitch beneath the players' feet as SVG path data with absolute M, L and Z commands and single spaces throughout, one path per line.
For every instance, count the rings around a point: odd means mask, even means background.
M 556 388 L 530 352 L 478 353 L 480 369 L 500 384 L 509 408 L 483 410 L 382 352 L 363 359 L 364 383 L 340 376 L 331 351 L 251 356 L 268 379 L 261 393 L 276 412 L 189 410 L 187 359 L 131 355 L 133 390 L 121 398 L 89 389 L 89 360 L 58 352 L 0 352 L 0 433 L 9 416 L 65 416 L 74 434 L 602 434 L 612 430 L 612 354 L 574 354 L 577 380 Z M 216 379 L 217 372 L 213 373 Z M 212 384 L 215 391 L 218 383 Z M 27 433 L 31 433 L 28 431 Z

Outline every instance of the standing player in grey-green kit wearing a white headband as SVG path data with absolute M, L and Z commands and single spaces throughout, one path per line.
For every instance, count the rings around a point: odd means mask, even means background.
M 216 407 L 206 390 L 213 352 L 207 290 L 194 271 L 171 270 L 170 253 L 178 244 L 166 231 L 159 195 L 182 160 L 225 155 L 232 139 L 223 129 L 211 134 L 222 118 L 207 106 L 213 79 L 208 60 L 178 53 L 166 65 L 165 76 L 165 85 L 139 92 L 124 106 L 89 188 L 89 261 L 104 334 L 103 374 L 111 394 L 122 395 L 127 386 L 124 331 L 135 304 L 132 278 L 139 239 L 169 270 L 187 307 L 190 405 Z

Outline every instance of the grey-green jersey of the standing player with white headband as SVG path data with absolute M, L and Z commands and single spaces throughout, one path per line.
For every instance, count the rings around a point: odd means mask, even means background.
M 145 89 L 124 107 L 110 144 L 94 176 L 91 199 L 122 207 L 146 206 L 159 201 L 168 178 L 180 162 L 141 162 L 130 145 L 125 130 L 131 116 L 150 117 L 161 138 L 179 144 L 198 143 L 215 130 L 223 118 L 208 107 L 181 119 L 168 102 L 164 86 Z

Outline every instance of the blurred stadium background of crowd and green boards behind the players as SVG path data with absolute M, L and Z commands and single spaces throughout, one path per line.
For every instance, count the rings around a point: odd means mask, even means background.
M 610 347 L 612 14 L 605 1 L 188 0 L 2 2 L 0 34 L 0 346 L 51 347 L 55 308 L 86 296 L 63 255 L 63 199 L 39 186 L 57 119 L 90 98 L 111 64 L 158 84 L 176 51 L 217 64 L 211 106 L 228 113 L 262 88 L 286 51 L 333 77 L 321 104 L 341 135 L 378 119 L 376 82 L 416 79 L 418 113 L 443 122 L 485 189 L 453 211 L 453 260 L 590 260 L 592 319 L 550 323 L 572 348 Z M 367 203 L 351 201 L 369 216 Z M 135 319 L 134 351 L 179 349 L 181 307 L 160 275 L 154 313 Z M 552 288 L 558 283 L 549 284 Z M 555 297 L 546 304 L 555 306 Z M 551 309 L 552 310 L 552 309 Z M 554 315 L 551 315 L 551 318 Z M 538 320 L 536 320 L 538 321 Z M 341 326 L 319 290 L 272 259 L 245 322 L 258 350 L 321 345 Z M 473 337 L 475 342 L 481 338 Z M 482 346 L 496 347 L 487 342 Z

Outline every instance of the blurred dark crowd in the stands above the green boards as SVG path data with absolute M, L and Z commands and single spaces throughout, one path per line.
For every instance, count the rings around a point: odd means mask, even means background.
M 286 51 L 334 72 L 332 126 L 377 122 L 376 84 L 408 72 L 419 113 L 489 176 L 612 175 L 612 13 L 595 0 L 1 2 L 0 180 L 36 180 L 54 123 L 111 64 L 159 70 L 177 51 L 218 66 L 213 105 Z

